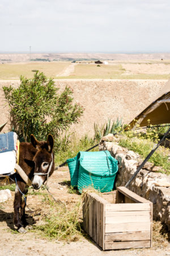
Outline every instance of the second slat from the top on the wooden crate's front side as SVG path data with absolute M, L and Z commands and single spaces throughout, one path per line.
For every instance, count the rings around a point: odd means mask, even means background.
M 133 222 L 151 222 L 151 216 L 133 215 L 133 216 L 120 216 L 120 217 L 105 217 L 105 224 L 114 223 L 133 223 Z

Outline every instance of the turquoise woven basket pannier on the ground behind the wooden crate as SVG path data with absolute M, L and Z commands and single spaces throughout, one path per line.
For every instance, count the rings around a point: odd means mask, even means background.
M 80 151 L 67 163 L 71 185 L 78 187 L 80 193 L 87 187 L 94 187 L 101 192 L 112 191 L 118 165 L 109 151 Z

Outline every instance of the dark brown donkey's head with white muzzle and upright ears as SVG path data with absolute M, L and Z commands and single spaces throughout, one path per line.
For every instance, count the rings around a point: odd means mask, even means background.
M 35 189 L 39 189 L 54 171 L 54 139 L 52 135 L 49 134 L 47 141 L 39 142 L 33 134 L 31 134 L 31 143 L 32 146 L 37 149 L 33 157 L 35 172 L 32 185 Z

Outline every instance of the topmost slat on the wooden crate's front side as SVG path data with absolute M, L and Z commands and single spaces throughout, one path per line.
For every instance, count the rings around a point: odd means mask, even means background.
M 125 212 L 127 211 L 139 211 L 139 210 L 150 210 L 150 203 L 138 203 L 138 204 L 106 204 L 105 210 L 112 212 Z

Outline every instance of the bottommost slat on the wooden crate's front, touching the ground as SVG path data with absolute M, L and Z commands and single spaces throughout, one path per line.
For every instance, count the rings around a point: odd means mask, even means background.
M 129 248 L 148 248 L 150 240 L 129 241 L 129 242 L 105 242 L 105 250 L 129 249 Z

